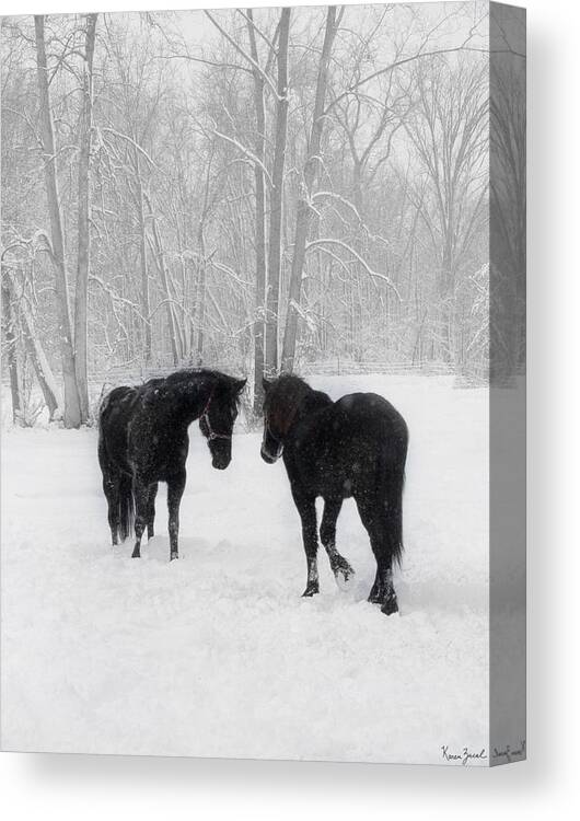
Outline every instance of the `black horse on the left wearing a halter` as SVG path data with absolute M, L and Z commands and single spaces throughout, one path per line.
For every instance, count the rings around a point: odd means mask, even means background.
M 147 525 L 153 535 L 158 483 L 167 483 L 170 559 L 177 558 L 179 502 L 189 450 L 187 428 L 199 418 L 213 467 L 232 458 L 232 429 L 237 400 L 246 383 L 211 370 L 183 370 L 136 388 L 115 388 L 98 414 L 98 463 L 108 502 L 113 544 L 130 535 L 134 558 L 141 553 Z

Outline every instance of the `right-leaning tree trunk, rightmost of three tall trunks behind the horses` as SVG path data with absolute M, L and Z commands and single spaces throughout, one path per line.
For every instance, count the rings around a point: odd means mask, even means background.
M 302 273 L 306 256 L 306 240 L 312 219 L 310 198 L 316 173 L 320 165 L 320 152 L 322 131 L 324 126 L 324 101 L 328 85 L 328 67 L 333 42 L 336 35 L 336 7 L 329 5 L 326 13 L 326 31 L 318 65 L 318 77 L 316 79 L 316 96 L 314 99 L 314 113 L 312 128 L 306 151 L 304 165 L 304 178 L 298 200 L 297 227 L 294 236 L 294 255 L 292 257 L 292 270 L 290 274 L 290 288 L 288 294 L 288 313 L 286 317 L 286 331 L 282 347 L 281 370 L 292 372 L 294 367 L 294 355 L 297 344 L 298 316 L 302 297 Z

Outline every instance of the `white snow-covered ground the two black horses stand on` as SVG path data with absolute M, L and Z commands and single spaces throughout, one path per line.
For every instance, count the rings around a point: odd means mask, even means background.
M 366 601 L 375 565 L 351 500 L 338 547 L 355 583 L 337 589 L 321 548 L 321 594 L 300 598 L 300 522 L 259 433 L 237 433 L 218 472 L 192 426 L 170 564 L 163 486 L 160 535 L 131 559 L 109 544 L 96 432 L 7 431 L 3 749 L 456 764 L 443 747 L 487 748 L 487 391 L 310 381 L 376 391 L 408 423 L 399 615 Z

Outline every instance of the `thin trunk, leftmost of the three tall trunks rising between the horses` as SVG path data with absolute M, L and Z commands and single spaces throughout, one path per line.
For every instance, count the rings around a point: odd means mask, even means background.
M 250 49 L 254 62 L 258 62 L 258 49 L 254 32 L 252 9 L 247 9 L 247 33 Z M 264 186 L 264 141 L 266 131 L 266 112 L 264 108 L 264 79 L 254 69 L 254 105 L 256 108 L 256 140 L 254 153 L 259 162 L 254 163 L 256 185 L 256 293 L 254 316 L 254 413 L 262 413 L 264 402 L 264 303 L 266 299 L 266 199 Z M 262 163 L 262 164 L 260 164 Z

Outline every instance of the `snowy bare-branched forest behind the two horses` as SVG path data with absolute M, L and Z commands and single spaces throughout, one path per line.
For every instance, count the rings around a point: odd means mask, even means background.
M 279 372 L 484 383 L 490 198 L 506 258 L 525 220 L 523 102 L 490 111 L 488 9 L 3 18 L 15 424 L 90 424 L 106 385 L 178 367 L 247 375 L 248 414 Z

